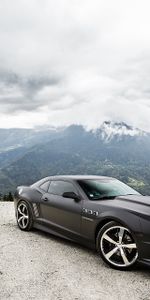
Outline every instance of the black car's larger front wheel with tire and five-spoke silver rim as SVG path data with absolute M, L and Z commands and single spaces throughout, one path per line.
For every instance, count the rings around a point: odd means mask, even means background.
M 130 269 L 138 259 L 138 249 L 132 232 L 117 222 L 104 225 L 97 235 L 98 252 L 112 268 Z

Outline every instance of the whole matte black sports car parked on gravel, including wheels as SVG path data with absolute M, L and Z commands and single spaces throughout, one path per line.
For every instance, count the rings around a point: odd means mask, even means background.
M 150 197 L 117 179 L 53 176 L 15 193 L 21 230 L 36 227 L 96 248 L 118 269 L 150 263 Z

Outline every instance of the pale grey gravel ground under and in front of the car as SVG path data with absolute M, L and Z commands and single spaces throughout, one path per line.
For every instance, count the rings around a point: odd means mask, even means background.
M 0 202 L 0 300 L 150 299 L 150 268 L 120 272 L 94 251 L 41 231 L 22 232 Z

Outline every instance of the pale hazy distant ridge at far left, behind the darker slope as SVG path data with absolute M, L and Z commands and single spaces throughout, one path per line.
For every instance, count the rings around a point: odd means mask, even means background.
M 63 135 L 63 128 L 0 129 L 0 168 L 22 157 L 36 144 Z

